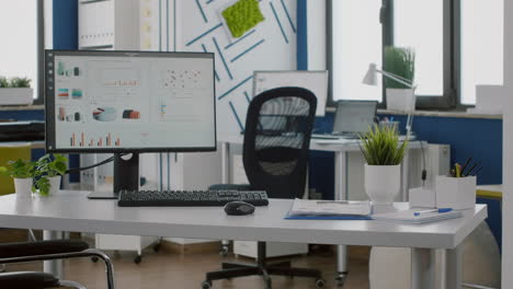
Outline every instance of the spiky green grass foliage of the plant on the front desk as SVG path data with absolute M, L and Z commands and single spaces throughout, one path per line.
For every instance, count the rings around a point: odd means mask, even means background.
M 397 165 L 402 162 L 408 140 L 399 144 L 396 127 L 374 125 L 361 137 L 360 149 L 369 165 Z

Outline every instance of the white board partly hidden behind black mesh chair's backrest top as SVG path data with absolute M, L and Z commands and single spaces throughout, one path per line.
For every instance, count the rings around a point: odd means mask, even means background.
M 328 97 L 328 71 L 254 71 L 253 96 L 275 88 L 296 86 L 311 91 L 317 97 L 316 116 L 324 116 Z

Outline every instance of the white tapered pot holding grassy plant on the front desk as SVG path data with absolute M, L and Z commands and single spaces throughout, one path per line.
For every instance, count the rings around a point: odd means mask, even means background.
M 401 189 L 401 165 L 365 164 L 365 193 L 373 205 L 389 206 Z

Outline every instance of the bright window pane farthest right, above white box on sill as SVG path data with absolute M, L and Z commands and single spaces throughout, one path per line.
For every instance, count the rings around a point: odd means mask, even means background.
M 476 103 L 476 85 L 503 84 L 504 1 L 460 1 L 460 101 Z

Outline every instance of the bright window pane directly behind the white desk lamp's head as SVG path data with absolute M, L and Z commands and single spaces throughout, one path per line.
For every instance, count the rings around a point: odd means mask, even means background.
M 381 66 L 381 25 L 377 21 L 381 0 L 332 1 L 333 100 L 381 101 L 381 84 L 369 86 L 362 79 L 371 62 Z M 355 57 L 357 56 L 357 57 Z M 380 81 L 380 79 L 379 79 Z

